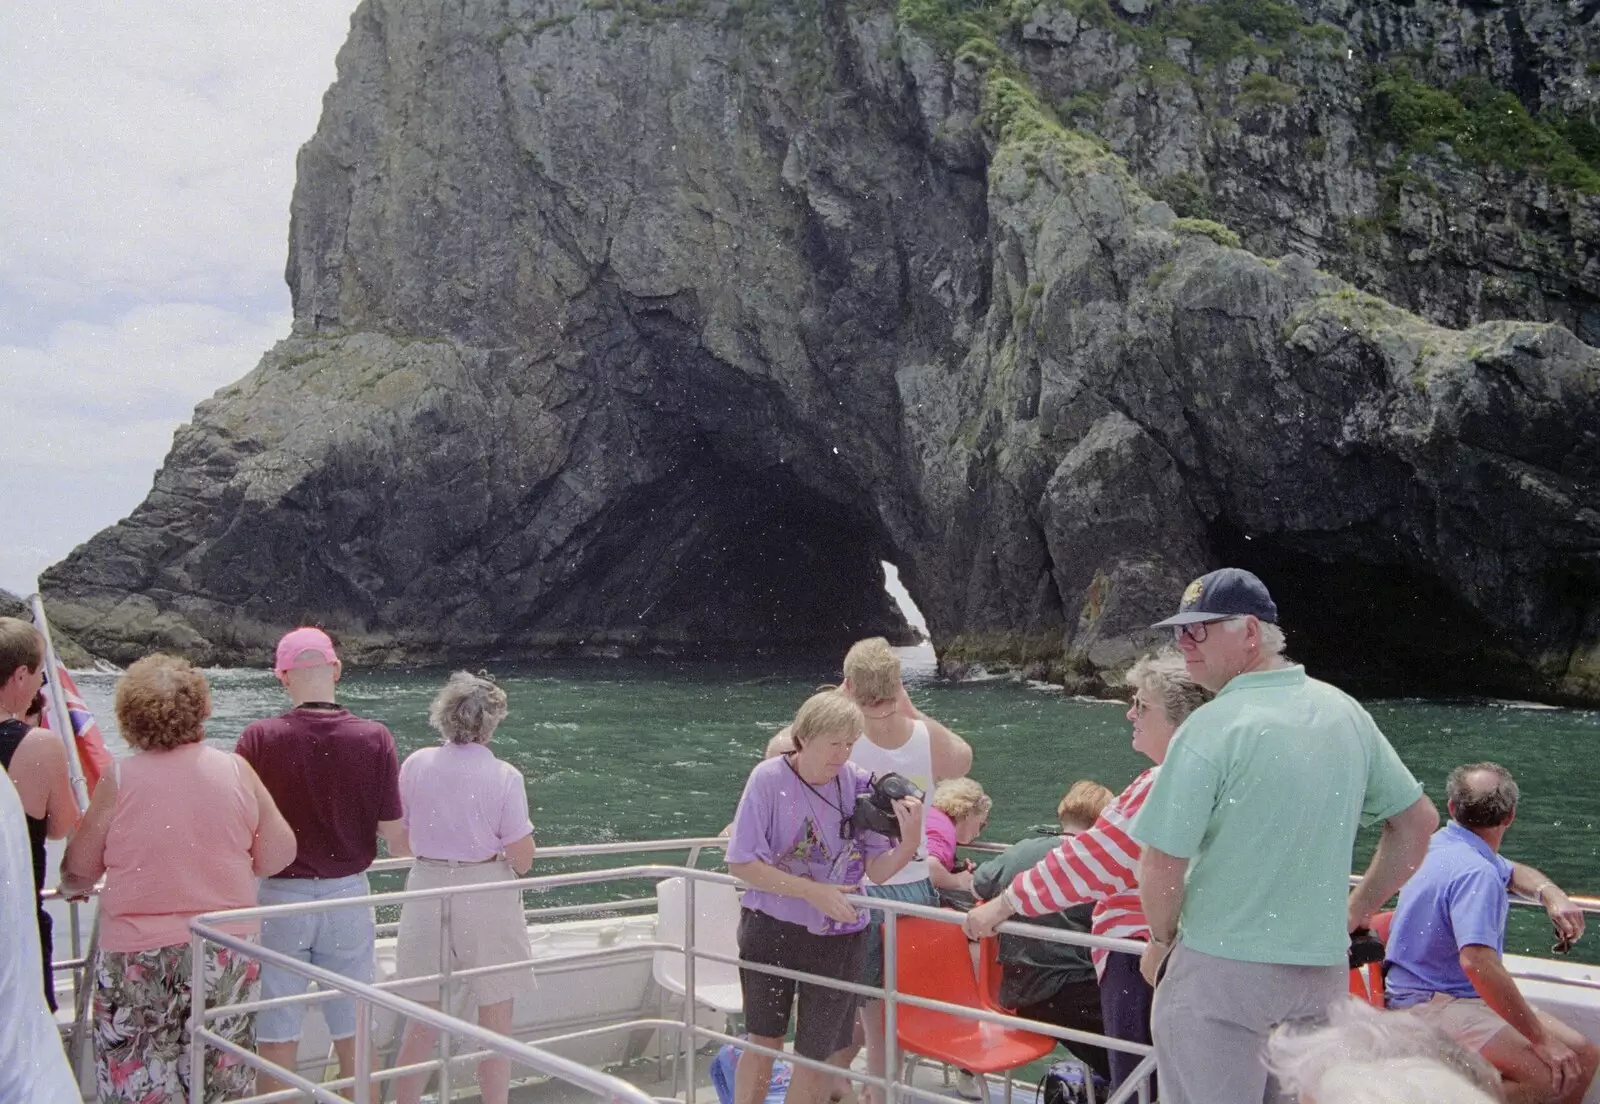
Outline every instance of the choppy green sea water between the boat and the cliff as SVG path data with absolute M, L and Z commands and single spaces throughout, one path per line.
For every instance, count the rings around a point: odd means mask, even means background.
M 400 755 L 434 742 L 427 704 L 446 670 L 350 672 L 341 696 L 394 731 Z M 592 661 L 494 672 L 512 714 L 494 750 L 528 779 L 541 845 L 714 835 L 733 816 L 744 778 L 766 739 L 794 715 L 826 667 L 714 662 Z M 926 653 L 909 653 L 906 683 L 917 706 L 966 736 L 973 776 L 994 797 L 986 838 L 1008 842 L 1054 819 L 1056 802 L 1078 778 L 1120 790 L 1146 766 L 1128 742 L 1125 706 L 1066 699 L 1027 685 L 934 680 Z M 232 747 L 251 720 L 286 707 L 267 672 L 214 670 L 208 734 Z M 115 749 L 112 675 L 83 675 Z M 1538 866 L 1571 893 L 1600 893 L 1600 712 L 1509 702 L 1368 702 L 1406 765 L 1442 800 L 1445 774 L 1493 758 L 1522 786 L 1523 802 L 1506 853 Z M 1376 832 L 1363 832 L 1365 864 Z M 541 867 L 536 867 L 536 870 Z M 544 869 L 549 869 L 547 866 Z M 1546 954 L 1542 914 L 1514 912 L 1509 950 Z M 1576 957 L 1600 963 L 1600 926 Z

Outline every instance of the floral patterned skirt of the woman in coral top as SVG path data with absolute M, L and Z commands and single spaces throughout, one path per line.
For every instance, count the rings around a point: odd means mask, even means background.
M 94 1051 L 102 1104 L 184 1104 L 189 1099 L 189 944 L 106 950 L 94 986 Z M 261 963 L 206 946 L 205 1003 L 256 998 Z M 213 1019 L 211 1030 L 256 1048 L 256 1016 Z M 256 1070 L 206 1050 L 205 1101 L 248 1096 Z

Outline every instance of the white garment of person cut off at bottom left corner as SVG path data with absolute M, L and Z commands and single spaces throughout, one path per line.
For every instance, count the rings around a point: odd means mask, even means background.
M 0 1101 L 82 1104 L 38 976 L 38 906 L 22 798 L 0 770 Z

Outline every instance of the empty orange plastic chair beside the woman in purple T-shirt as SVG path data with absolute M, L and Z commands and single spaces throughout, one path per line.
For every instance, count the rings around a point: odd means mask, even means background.
M 978 987 L 966 933 L 960 925 L 922 917 L 894 917 L 894 922 L 896 992 L 965 1008 L 989 1008 Z M 907 1080 L 918 1058 L 931 1058 L 974 1074 L 1005 1070 L 1010 1082 L 1010 1070 L 1056 1050 L 1056 1040 L 1050 1035 L 910 1005 L 899 1005 L 896 1010 L 894 1035 L 907 1054 Z

